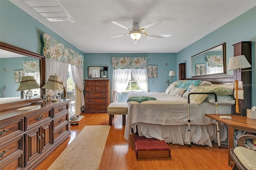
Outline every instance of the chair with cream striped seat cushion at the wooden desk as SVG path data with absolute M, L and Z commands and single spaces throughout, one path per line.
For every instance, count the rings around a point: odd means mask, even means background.
M 238 138 L 238 147 L 230 149 L 230 156 L 234 160 L 232 170 L 256 169 L 256 151 L 244 147 L 246 139 L 256 139 L 256 136 L 242 135 Z

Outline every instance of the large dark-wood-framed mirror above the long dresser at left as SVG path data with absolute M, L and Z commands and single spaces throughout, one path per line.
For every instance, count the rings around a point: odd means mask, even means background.
M 21 91 L 16 90 L 20 85 L 21 77 L 26 75 L 34 76 L 40 87 L 45 84 L 44 56 L 0 42 L 1 111 L 42 100 L 41 88 L 32 89 L 31 99 L 26 97 L 21 99 Z

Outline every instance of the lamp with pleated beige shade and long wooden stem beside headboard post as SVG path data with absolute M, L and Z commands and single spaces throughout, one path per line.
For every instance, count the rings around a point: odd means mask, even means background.
M 252 67 L 250 63 L 247 61 L 244 55 L 238 55 L 231 57 L 228 62 L 228 70 L 236 70 L 236 72 L 240 71 L 253 71 L 253 70 L 241 70 L 244 68 Z M 255 69 L 254 69 L 255 70 Z M 236 74 L 237 75 L 237 74 Z M 236 113 L 239 113 L 239 106 L 238 106 L 238 80 L 236 77 L 235 81 L 235 92 L 236 92 Z

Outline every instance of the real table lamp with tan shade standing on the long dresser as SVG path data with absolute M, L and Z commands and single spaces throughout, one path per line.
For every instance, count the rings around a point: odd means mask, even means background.
M 67 97 L 66 88 L 64 87 L 62 81 L 59 79 L 59 77 L 56 74 L 50 75 L 48 81 L 42 87 L 42 89 L 52 89 L 52 95 L 53 95 L 52 101 L 54 102 L 58 101 L 58 99 L 56 98 L 58 94 L 58 90 L 64 89 L 64 99 L 66 99 Z

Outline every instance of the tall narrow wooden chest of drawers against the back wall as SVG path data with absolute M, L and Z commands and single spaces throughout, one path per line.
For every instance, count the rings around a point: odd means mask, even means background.
M 109 79 L 85 81 L 84 113 L 107 113 L 110 104 Z

